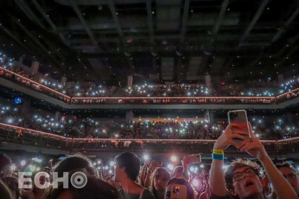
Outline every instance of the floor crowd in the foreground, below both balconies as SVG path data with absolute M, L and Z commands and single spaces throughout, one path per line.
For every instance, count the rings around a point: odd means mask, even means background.
M 194 169 L 200 161 L 194 161 L 189 155 L 181 161 L 171 158 L 174 165 L 167 167 L 159 161 L 150 162 L 149 157 L 144 157 L 142 163 L 132 152 L 116 156 L 110 166 L 83 155 L 62 158 L 53 166 L 53 160 L 49 164 L 39 158 L 18 161 L 0 153 L 1 198 L 298 199 L 298 171 L 286 162 L 274 164 L 263 144 L 255 138 L 250 123 L 248 126 L 250 139 L 240 134 L 239 124 L 229 124 L 214 144 L 210 170 L 201 169 L 202 172 Z M 237 143 L 236 138 L 242 141 Z M 257 158 L 261 165 L 240 158 L 225 165 L 224 149 L 229 145 Z M 32 172 L 33 176 L 22 178 L 21 171 Z M 83 176 L 80 179 L 70 177 L 79 172 Z M 63 176 L 72 182 L 68 187 L 64 187 Z M 25 177 L 32 183 L 24 181 Z M 60 182 L 56 181 L 57 177 L 61 178 Z M 19 188 L 18 185 L 27 187 Z

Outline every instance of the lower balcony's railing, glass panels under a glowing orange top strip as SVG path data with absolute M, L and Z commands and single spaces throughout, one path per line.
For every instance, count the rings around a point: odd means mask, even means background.
M 18 132 L 21 129 L 22 135 Z M 20 135 L 18 137 L 18 135 Z M 169 139 L 93 139 L 93 138 L 67 138 L 60 135 L 36 131 L 23 127 L 0 123 L 0 141 L 18 144 L 44 146 L 70 151 L 116 151 L 130 150 L 156 150 L 167 149 L 181 151 L 194 150 L 196 152 L 210 152 L 216 140 L 169 140 Z M 299 150 L 299 137 L 284 140 L 261 140 L 269 153 L 291 153 Z M 229 147 L 227 152 L 238 152 L 235 147 Z

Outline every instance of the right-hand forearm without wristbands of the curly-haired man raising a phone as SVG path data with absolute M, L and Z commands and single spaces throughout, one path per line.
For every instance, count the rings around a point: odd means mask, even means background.
M 271 161 L 270 157 L 267 155 L 263 160 L 260 160 L 262 163 L 270 182 L 273 185 L 274 191 L 277 195 L 277 198 L 284 199 L 298 199 L 298 196 L 295 190 L 292 188 L 290 183 L 283 177 L 283 175 L 279 172 L 276 166 Z

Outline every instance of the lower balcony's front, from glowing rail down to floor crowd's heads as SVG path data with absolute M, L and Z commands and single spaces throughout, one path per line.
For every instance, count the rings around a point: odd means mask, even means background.
M 18 130 L 22 130 L 18 137 Z M 118 153 L 132 151 L 143 153 L 145 151 L 161 154 L 165 152 L 176 153 L 202 153 L 202 157 L 210 158 L 216 140 L 167 140 L 167 139 L 87 139 L 67 138 L 51 133 L 26 129 L 13 125 L 0 123 L 0 146 L 2 149 L 26 150 L 31 147 L 32 152 L 41 150 L 52 154 L 72 154 L 82 152 L 88 155 L 99 153 Z M 272 157 L 296 157 L 299 152 L 299 137 L 278 141 L 261 141 L 268 154 Z M 8 147 L 9 145 L 15 147 Z M 35 147 L 32 148 L 32 147 Z M 34 151 L 35 150 L 35 151 Z M 228 156 L 248 157 L 234 146 L 225 150 Z

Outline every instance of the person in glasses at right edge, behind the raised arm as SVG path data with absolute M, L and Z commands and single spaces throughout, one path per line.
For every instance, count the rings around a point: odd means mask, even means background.
M 299 177 L 294 166 L 287 162 L 278 163 L 275 165 L 280 173 L 285 177 L 299 197 Z

